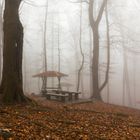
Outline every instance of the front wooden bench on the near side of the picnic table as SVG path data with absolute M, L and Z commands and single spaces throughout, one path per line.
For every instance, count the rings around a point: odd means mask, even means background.
M 56 97 L 56 99 L 60 99 L 62 102 L 66 101 L 66 98 L 68 98 L 68 95 L 66 94 L 56 94 L 56 93 L 47 93 L 46 98 L 51 99 L 51 97 Z

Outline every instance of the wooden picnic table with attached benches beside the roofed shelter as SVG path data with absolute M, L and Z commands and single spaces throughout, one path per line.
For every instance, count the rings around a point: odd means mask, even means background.
M 46 93 L 46 98 L 51 99 L 51 97 L 56 97 L 56 99 L 60 99 L 60 101 L 65 102 L 66 99 L 68 101 L 78 100 L 80 92 L 75 91 L 64 91 L 64 90 L 50 90 Z

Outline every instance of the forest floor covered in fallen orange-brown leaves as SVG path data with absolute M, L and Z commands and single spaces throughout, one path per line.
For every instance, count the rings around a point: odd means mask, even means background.
M 140 110 L 87 102 L 0 106 L 0 140 L 140 140 Z

